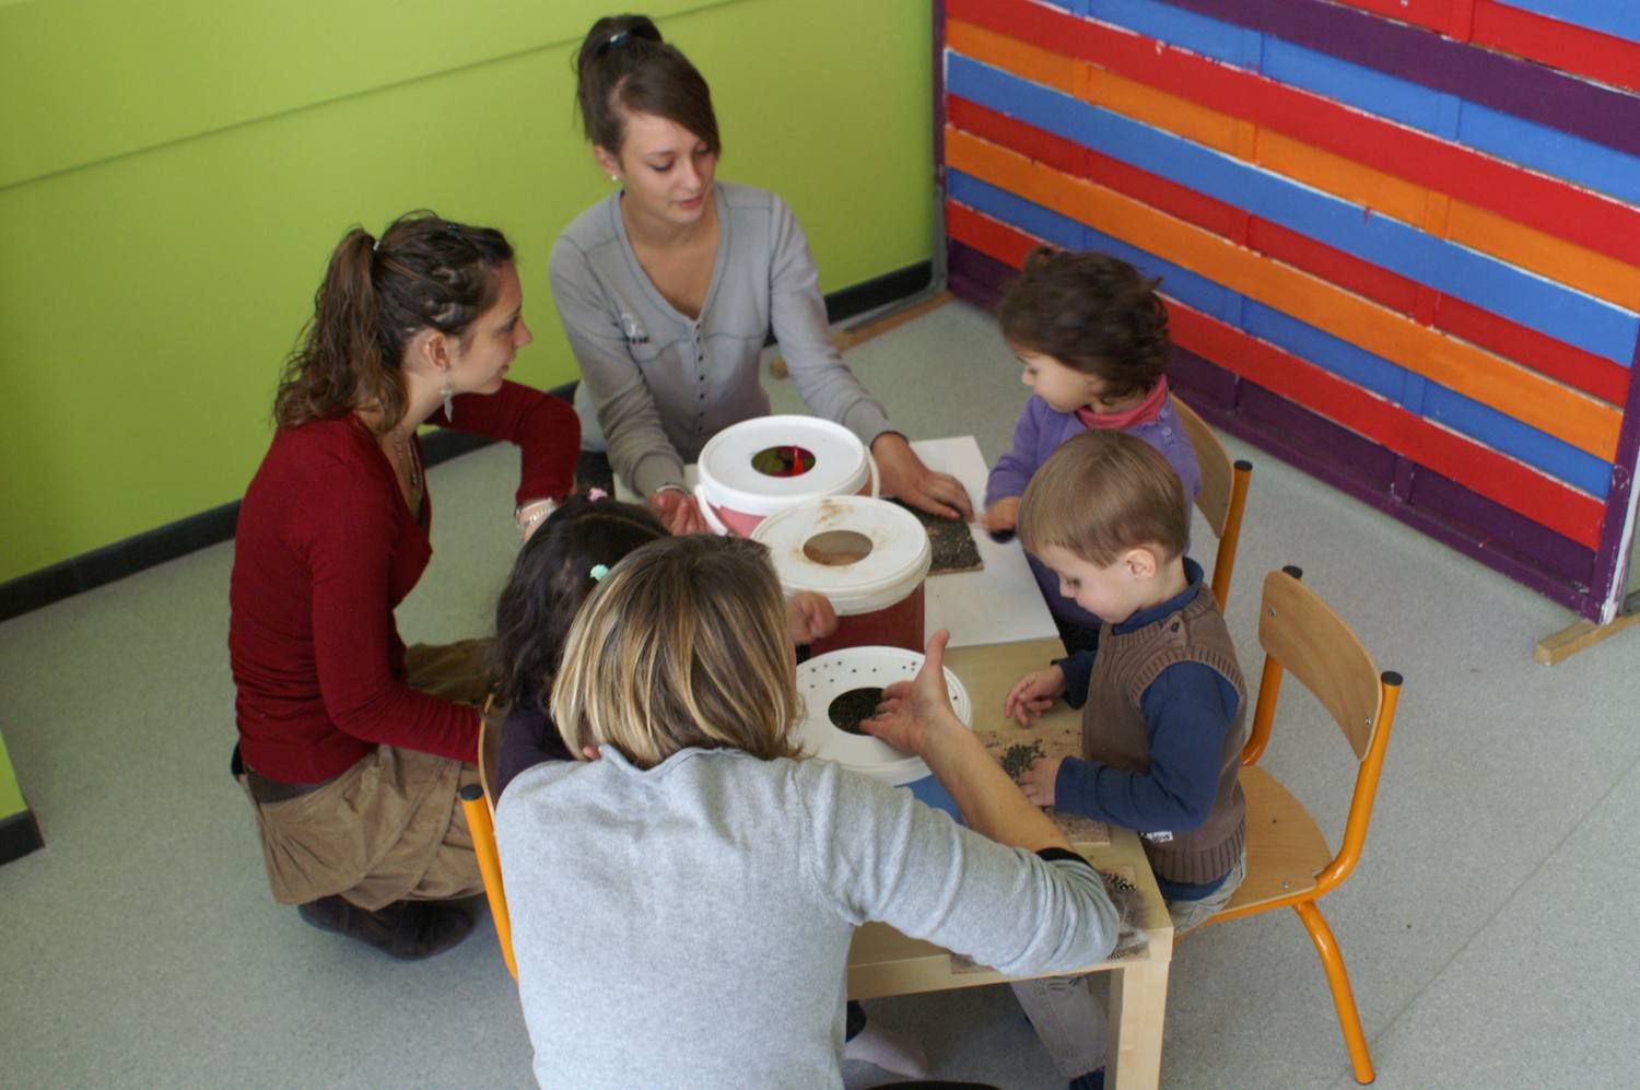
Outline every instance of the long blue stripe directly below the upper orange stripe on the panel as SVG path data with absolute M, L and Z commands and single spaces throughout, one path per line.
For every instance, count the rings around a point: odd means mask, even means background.
M 1620 307 L 961 54 L 948 57 L 946 87 L 1624 367 L 1633 362 L 1640 318 Z

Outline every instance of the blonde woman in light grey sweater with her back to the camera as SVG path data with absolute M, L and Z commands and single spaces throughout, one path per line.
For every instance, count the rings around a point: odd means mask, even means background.
M 495 811 L 541 1085 L 841 1085 L 868 920 L 1010 974 L 1110 951 L 1104 882 L 951 711 L 946 634 L 866 729 L 966 828 L 797 752 L 787 621 L 768 551 L 704 534 L 640 547 L 576 615 L 551 715 L 577 761 Z

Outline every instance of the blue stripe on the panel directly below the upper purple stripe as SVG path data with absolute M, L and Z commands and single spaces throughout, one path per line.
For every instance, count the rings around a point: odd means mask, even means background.
M 1059 7 L 1069 8 L 1069 5 Z M 1547 125 L 1524 121 L 1466 98 L 1453 98 L 1420 84 L 1340 61 L 1327 52 L 1294 46 L 1273 34 L 1261 34 L 1156 0 L 1091 0 L 1086 7 L 1091 16 L 1102 23 L 1261 72 L 1291 87 L 1443 139 L 1453 138 L 1450 118 L 1443 120 L 1443 110 L 1450 115 L 1451 102 L 1458 103 L 1458 111 L 1465 116 L 1484 111 L 1492 115 L 1491 123 L 1479 129 L 1486 141 L 1471 144 L 1476 136 L 1460 123 L 1456 143 L 1640 205 L 1640 159 L 1604 144 L 1571 138 Z

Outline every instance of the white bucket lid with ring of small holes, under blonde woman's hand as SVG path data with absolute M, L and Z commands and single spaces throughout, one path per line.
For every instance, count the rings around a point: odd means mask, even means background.
M 797 695 L 807 715 L 797 728 L 797 744 L 804 752 L 835 761 L 845 769 L 863 772 L 899 787 L 928 775 L 922 757 L 900 752 L 869 734 L 851 734 L 831 723 L 831 702 L 854 688 L 887 688 L 909 682 L 922 669 L 923 656 L 900 647 L 845 647 L 809 659 L 797 667 Z M 951 708 L 963 726 L 973 728 L 974 710 L 968 690 L 946 667 L 945 685 Z

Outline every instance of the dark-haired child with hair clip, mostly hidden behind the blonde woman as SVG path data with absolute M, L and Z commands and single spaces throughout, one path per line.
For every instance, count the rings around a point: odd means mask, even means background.
M 564 636 L 581 603 L 633 549 L 666 536 L 648 508 L 607 498 L 602 488 L 572 497 L 520 549 L 495 605 L 495 641 L 489 665 L 494 698 L 507 708 L 495 769 L 495 798 L 513 779 L 544 761 L 572 761 L 546 710 Z M 825 597 L 802 592 L 786 602 L 786 633 L 794 646 L 836 631 Z M 902 1075 L 923 1072 L 915 1041 L 871 1026 L 858 1003 L 848 1005 L 848 1059 Z

